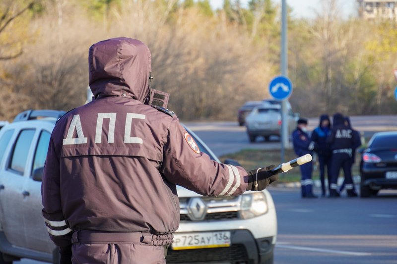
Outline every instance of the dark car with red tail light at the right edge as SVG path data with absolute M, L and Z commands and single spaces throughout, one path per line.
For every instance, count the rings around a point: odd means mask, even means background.
M 397 131 L 376 133 L 360 152 L 361 197 L 397 189 Z

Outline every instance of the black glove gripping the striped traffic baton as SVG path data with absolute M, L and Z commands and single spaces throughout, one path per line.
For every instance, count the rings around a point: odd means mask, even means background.
M 274 174 L 271 170 L 274 165 L 267 166 L 265 168 L 253 169 L 249 172 L 247 191 L 262 191 L 270 183 L 278 180 L 278 174 Z M 257 170 L 258 170 L 258 182 L 257 182 Z M 256 186 L 258 184 L 258 186 Z

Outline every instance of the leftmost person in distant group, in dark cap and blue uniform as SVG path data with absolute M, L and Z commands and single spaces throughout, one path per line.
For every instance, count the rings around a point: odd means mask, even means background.
M 306 154 L 313 154 L 314 142 L 310 140 L 309 135 L 307 134 L 307 119 L 301 118 L 298 120 L 298 125 L 296 129 L 292 132 L 292 141 L 294 145 L 295 154 L 300 157 Z M 308 162 L 306 164 L 299 166 L 301 170 L 301 195 L 302 198 L 317 198 L 316 195 L 313 194 L 313 180 L 312 180 L 312 171 L 313 165 L 312 162 Z

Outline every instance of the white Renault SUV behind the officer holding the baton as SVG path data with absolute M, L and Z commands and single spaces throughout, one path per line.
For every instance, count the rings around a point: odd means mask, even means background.
M 62 114 L 25 111 L 0 130 L 0 264 L 20 258 L 58 263 L 41 213 L 40 187 L 50 135 Z M 200 151 L 219 162 L 187 130 Z M 277 220 L 268 191 L 202 197 L 180 186 L 177 190 L 181 223 L 167 263 L 273 263 Z

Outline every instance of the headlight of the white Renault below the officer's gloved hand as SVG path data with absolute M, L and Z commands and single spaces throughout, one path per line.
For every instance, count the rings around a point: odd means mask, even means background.
M 266 197 L 262 192 L 242 195 L 241 217 L 243 219 L 249 219 L 265 214 L 267 210 Z

